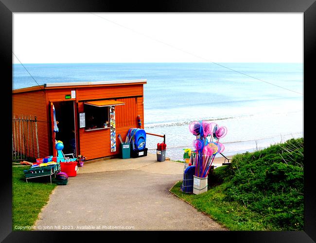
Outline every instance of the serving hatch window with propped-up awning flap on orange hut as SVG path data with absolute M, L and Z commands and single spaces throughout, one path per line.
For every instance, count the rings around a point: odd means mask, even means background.
M 115 100 L 85 102 L 86 130 L 109 127 L 109 106 L 122 104 L 125 103 Z

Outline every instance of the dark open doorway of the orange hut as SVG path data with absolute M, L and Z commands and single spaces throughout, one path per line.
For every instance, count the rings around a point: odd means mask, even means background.
M 64 154 L 76 156 L 76 135 L 74 123 L 74 103 L 73 101 L 54 102 L 58 132 L 56 140 L 64 144 Z

